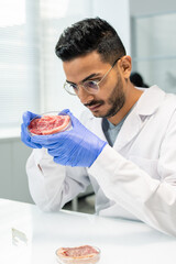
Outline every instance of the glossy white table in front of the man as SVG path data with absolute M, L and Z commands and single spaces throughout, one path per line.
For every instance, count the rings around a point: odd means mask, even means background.
M 20 231 L 18 245 L 12 228 Z M 57 248 L 84 244 L 101 250 L 99 264 L 176 264 L 176 238 L 142 222 L 66 210 L 46 213 L 0 199 L 0 264 L 56 264 Z

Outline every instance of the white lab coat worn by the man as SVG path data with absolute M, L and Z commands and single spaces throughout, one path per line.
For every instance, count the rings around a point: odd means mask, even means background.
M 106 140 L 101 121 L 87 111 L 81 117 Z M 113 147 L 107 145 L 90 168 L 58 165 L 42 148 L 33 151 L 26 172 L 43 210 L 59 210 L 91 184 L 99 216 L 139 219 L 176 235 L 176 96 L 145 89 Z

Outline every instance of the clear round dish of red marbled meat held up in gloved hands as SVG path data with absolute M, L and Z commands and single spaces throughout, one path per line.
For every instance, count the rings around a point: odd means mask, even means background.
M 28 131 L 30 135 L 48 135 L 72 129 L 68 114 L 61 111 L 46 112 L 31 120 Z

